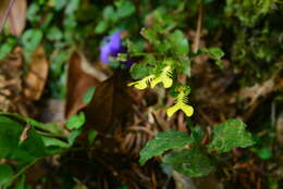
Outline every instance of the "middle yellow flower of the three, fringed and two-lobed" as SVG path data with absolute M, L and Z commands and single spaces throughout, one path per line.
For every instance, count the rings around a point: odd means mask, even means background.
M 153 88 L 157 84 L 162 83 L 164 88 L 170 88 L 173 84 L 172 77 L 172 68 L 171 66 L 165 66 L 159 76 L 156 76 L 151 81 L 151 88 Z

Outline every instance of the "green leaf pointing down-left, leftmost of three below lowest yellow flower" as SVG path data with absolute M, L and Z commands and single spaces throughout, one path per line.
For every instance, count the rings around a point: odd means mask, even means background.
M 153 139 L 149 140 L 139 153 L 139 163 L 143 165 L 152 156 L 159 156 L 167 150 L 182 148 L 192 143 L 193 140 L 187 134 L 177 130 L 159 133 Z

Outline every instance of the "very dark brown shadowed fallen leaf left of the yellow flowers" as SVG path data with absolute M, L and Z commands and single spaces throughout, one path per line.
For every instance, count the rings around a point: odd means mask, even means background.
M 123 71 L 116 70 L 110 78 L 97 86 L 93 100 L 86 108 L 86 124 L 93 129 L 106 133 L 116 119 L 131 111 L 133 99 L 126 78 Z

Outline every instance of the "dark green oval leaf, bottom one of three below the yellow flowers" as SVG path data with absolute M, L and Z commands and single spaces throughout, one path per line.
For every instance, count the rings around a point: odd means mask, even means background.
M 189 177 L 206 176 L 214 171 L 209 158 L 197 149 L 186 149 L 163 158 L 163 163 Z

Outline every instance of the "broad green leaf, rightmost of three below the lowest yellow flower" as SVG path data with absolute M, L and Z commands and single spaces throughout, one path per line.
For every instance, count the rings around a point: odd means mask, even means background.
M 233 148 L 246 148 L 255 144 L 246 124 L 239 119 L 229 119 L 213 128 L 209 151 L 227 152 Z

